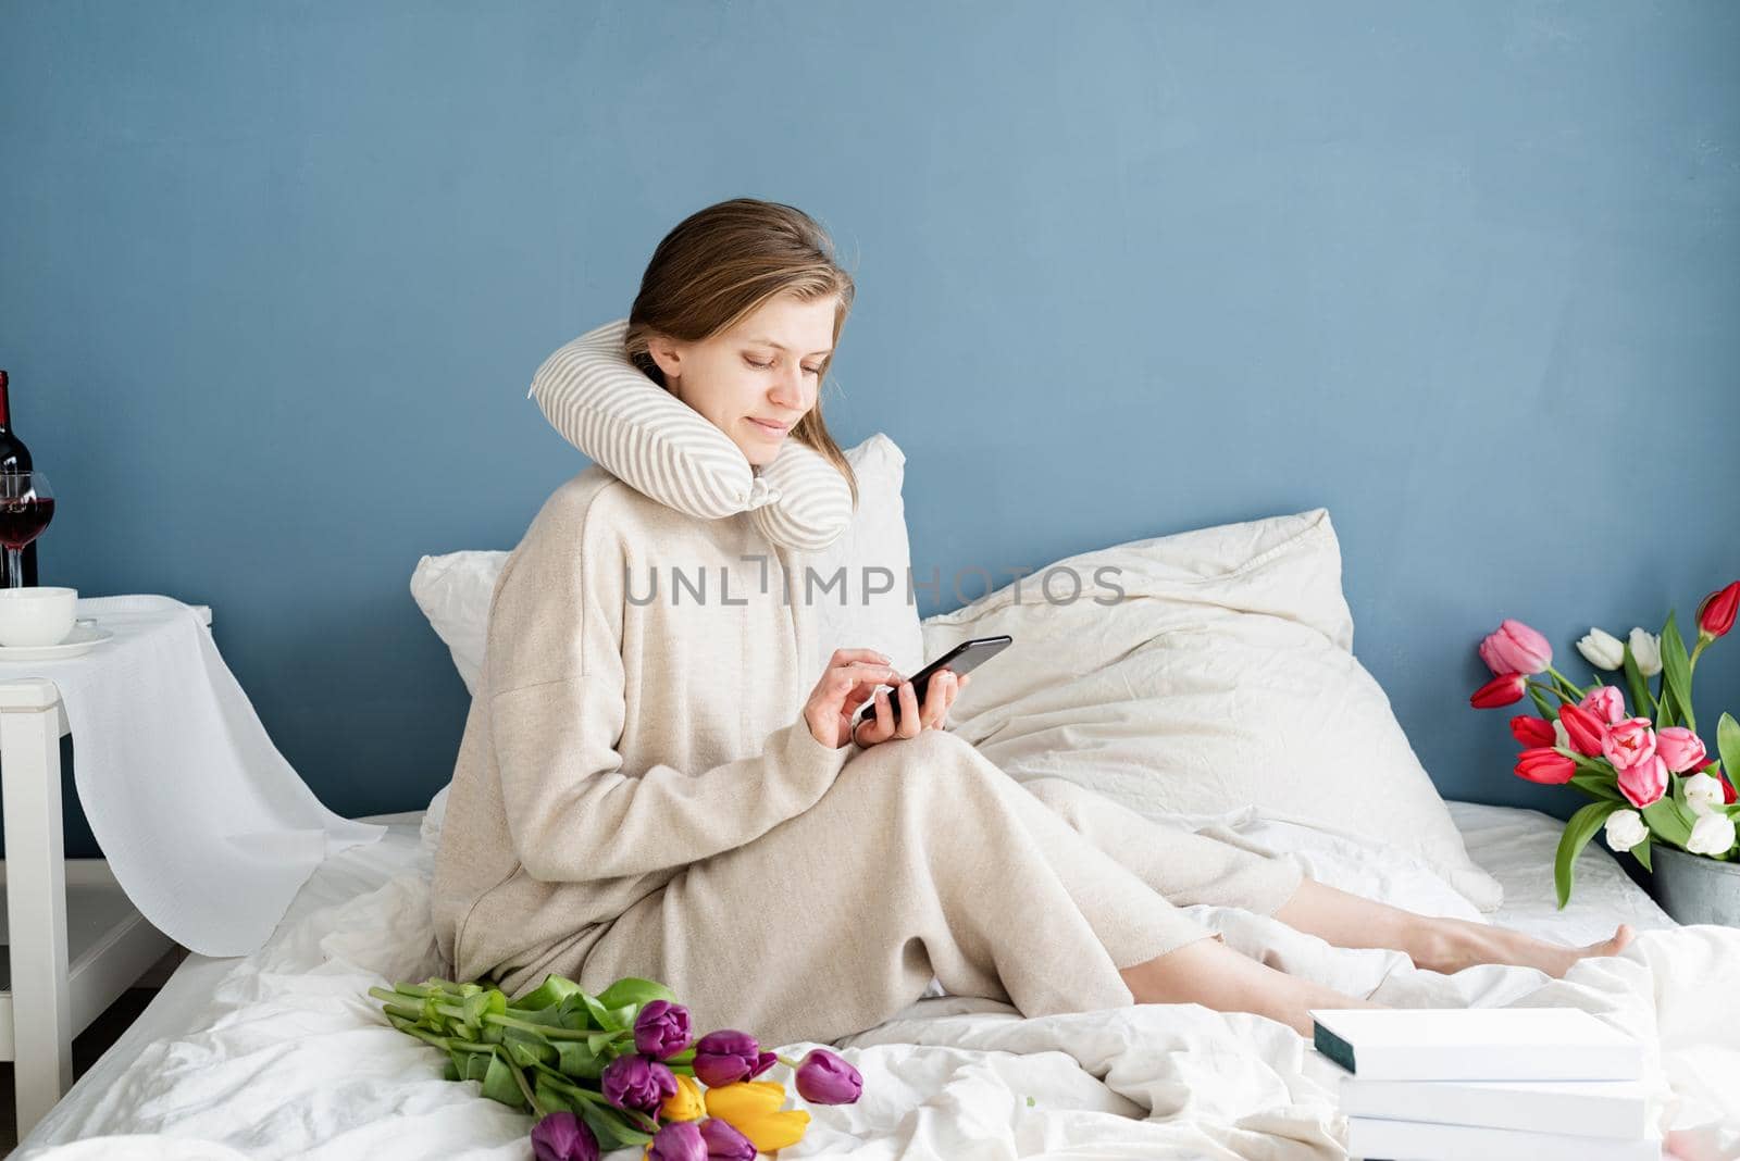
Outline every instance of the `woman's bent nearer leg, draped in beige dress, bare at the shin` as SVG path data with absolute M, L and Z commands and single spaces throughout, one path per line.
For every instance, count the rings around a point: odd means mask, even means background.
M 1197 944 L 1213 951 L 1168 961 Z M 1218 966 L 1178 970 L 1202 963 Z M 625 911 L 585 963 L 550 970 L 585 987 L 663 980 L 701 1029 L 767 1043 L 872 1027 L 933 973 L 952 994 L 1025 1015 L 1128 1005 L 1134 980 L 1143 1001 L 1284 1012 L 1298 1027 L 1296 982 L 1244 965 L 1260 966 L 966 740 L 926 730 L 856 754 L 802 815 L 691 864 Z M 1241 970 L 1244 985 L 1228 987 Z

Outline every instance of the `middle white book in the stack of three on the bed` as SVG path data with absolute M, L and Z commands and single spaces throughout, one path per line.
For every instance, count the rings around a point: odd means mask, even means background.
M 1632 1140 L 1650 1131 L 1643 1081 L 1368 1081 L 1336 1072 L 1347 1116 Z

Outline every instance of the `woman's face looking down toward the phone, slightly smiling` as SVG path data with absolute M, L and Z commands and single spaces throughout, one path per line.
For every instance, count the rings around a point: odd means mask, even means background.
M 701 342 L 652 335 L 649 351 L 675 396 L 764 466 L 816 405 L 837 304 L 776 295 L 731 330 Z

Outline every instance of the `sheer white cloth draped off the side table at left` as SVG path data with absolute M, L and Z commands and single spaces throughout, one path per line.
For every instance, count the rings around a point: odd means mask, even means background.
M 191 607 L 103 596 L 78 615 L 115 636 L 80 657 L 0 662 L 0 681 L 59 688 L 78 801 L 139 914 L 205 956 L 259 949 L 327 855 L 386 827 L 315 798 Z

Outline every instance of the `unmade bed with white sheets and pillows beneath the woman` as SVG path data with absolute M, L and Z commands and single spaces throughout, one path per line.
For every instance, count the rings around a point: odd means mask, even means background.
M 1032 586 L 1023 600 L 1011 584 L 920 622 L 900 586 L 868 584 L 872 567 L 912 568 L 905 455 L 880 433 L 846 455 L 867 502 L 811 558 L 820 575 L 846 570 L 851 598 L 823 607 L 814 673 L 839 647 L 879 648 L 915 673 L 960 640 L 1007 633 L 1023 657 L 978 669 L 950 728 L 1016 780 L 1068 777 L 1162 826 L 1221 826 L 1319 881 L 1427 914 L 1563 944 L 1630 923 L 1639 935 L 1623 954 L 1552 980 L 1503 966 L 1439 975 L 1251 912 L 1188 909 L 1239 951 L 1347 994 L 1590 1010 L 1650 1046 L 1656 1123 L 1676 1156 L 1740 1158 L 1740 930 L 1674 925 L 1601 843 L 1578 859 L 1559 911 L 1556 819 L 1439 796 L 1352 652 L 1328 511 L 1115 544 L 1039 570 L 1046 582 L 1115 577 L 1114 601 L 1035 600 Z M 411 584 L 473 693 L 506 556 L 425 556 Z M 531 1156 L 527 1116 L 477 1083 L 442 1079 L 445 1057 L 390 1027 L 367 996 L 447 973 L 428 907 L 444 810 L 445 789 L 423 812 L 372 819 L 386 834 L 329 857 L 256 952 L 190 956 L 17 1156 Z M 811 1107 L 786 1158 L 1347 1156 L 1333 1065 L 1255 1015 L 1140 1005 L 1023 1018 L 933 985 L 837 1048 L 865 1095 Z M 767 1079 L 792 1078 L 778 1065 Z

